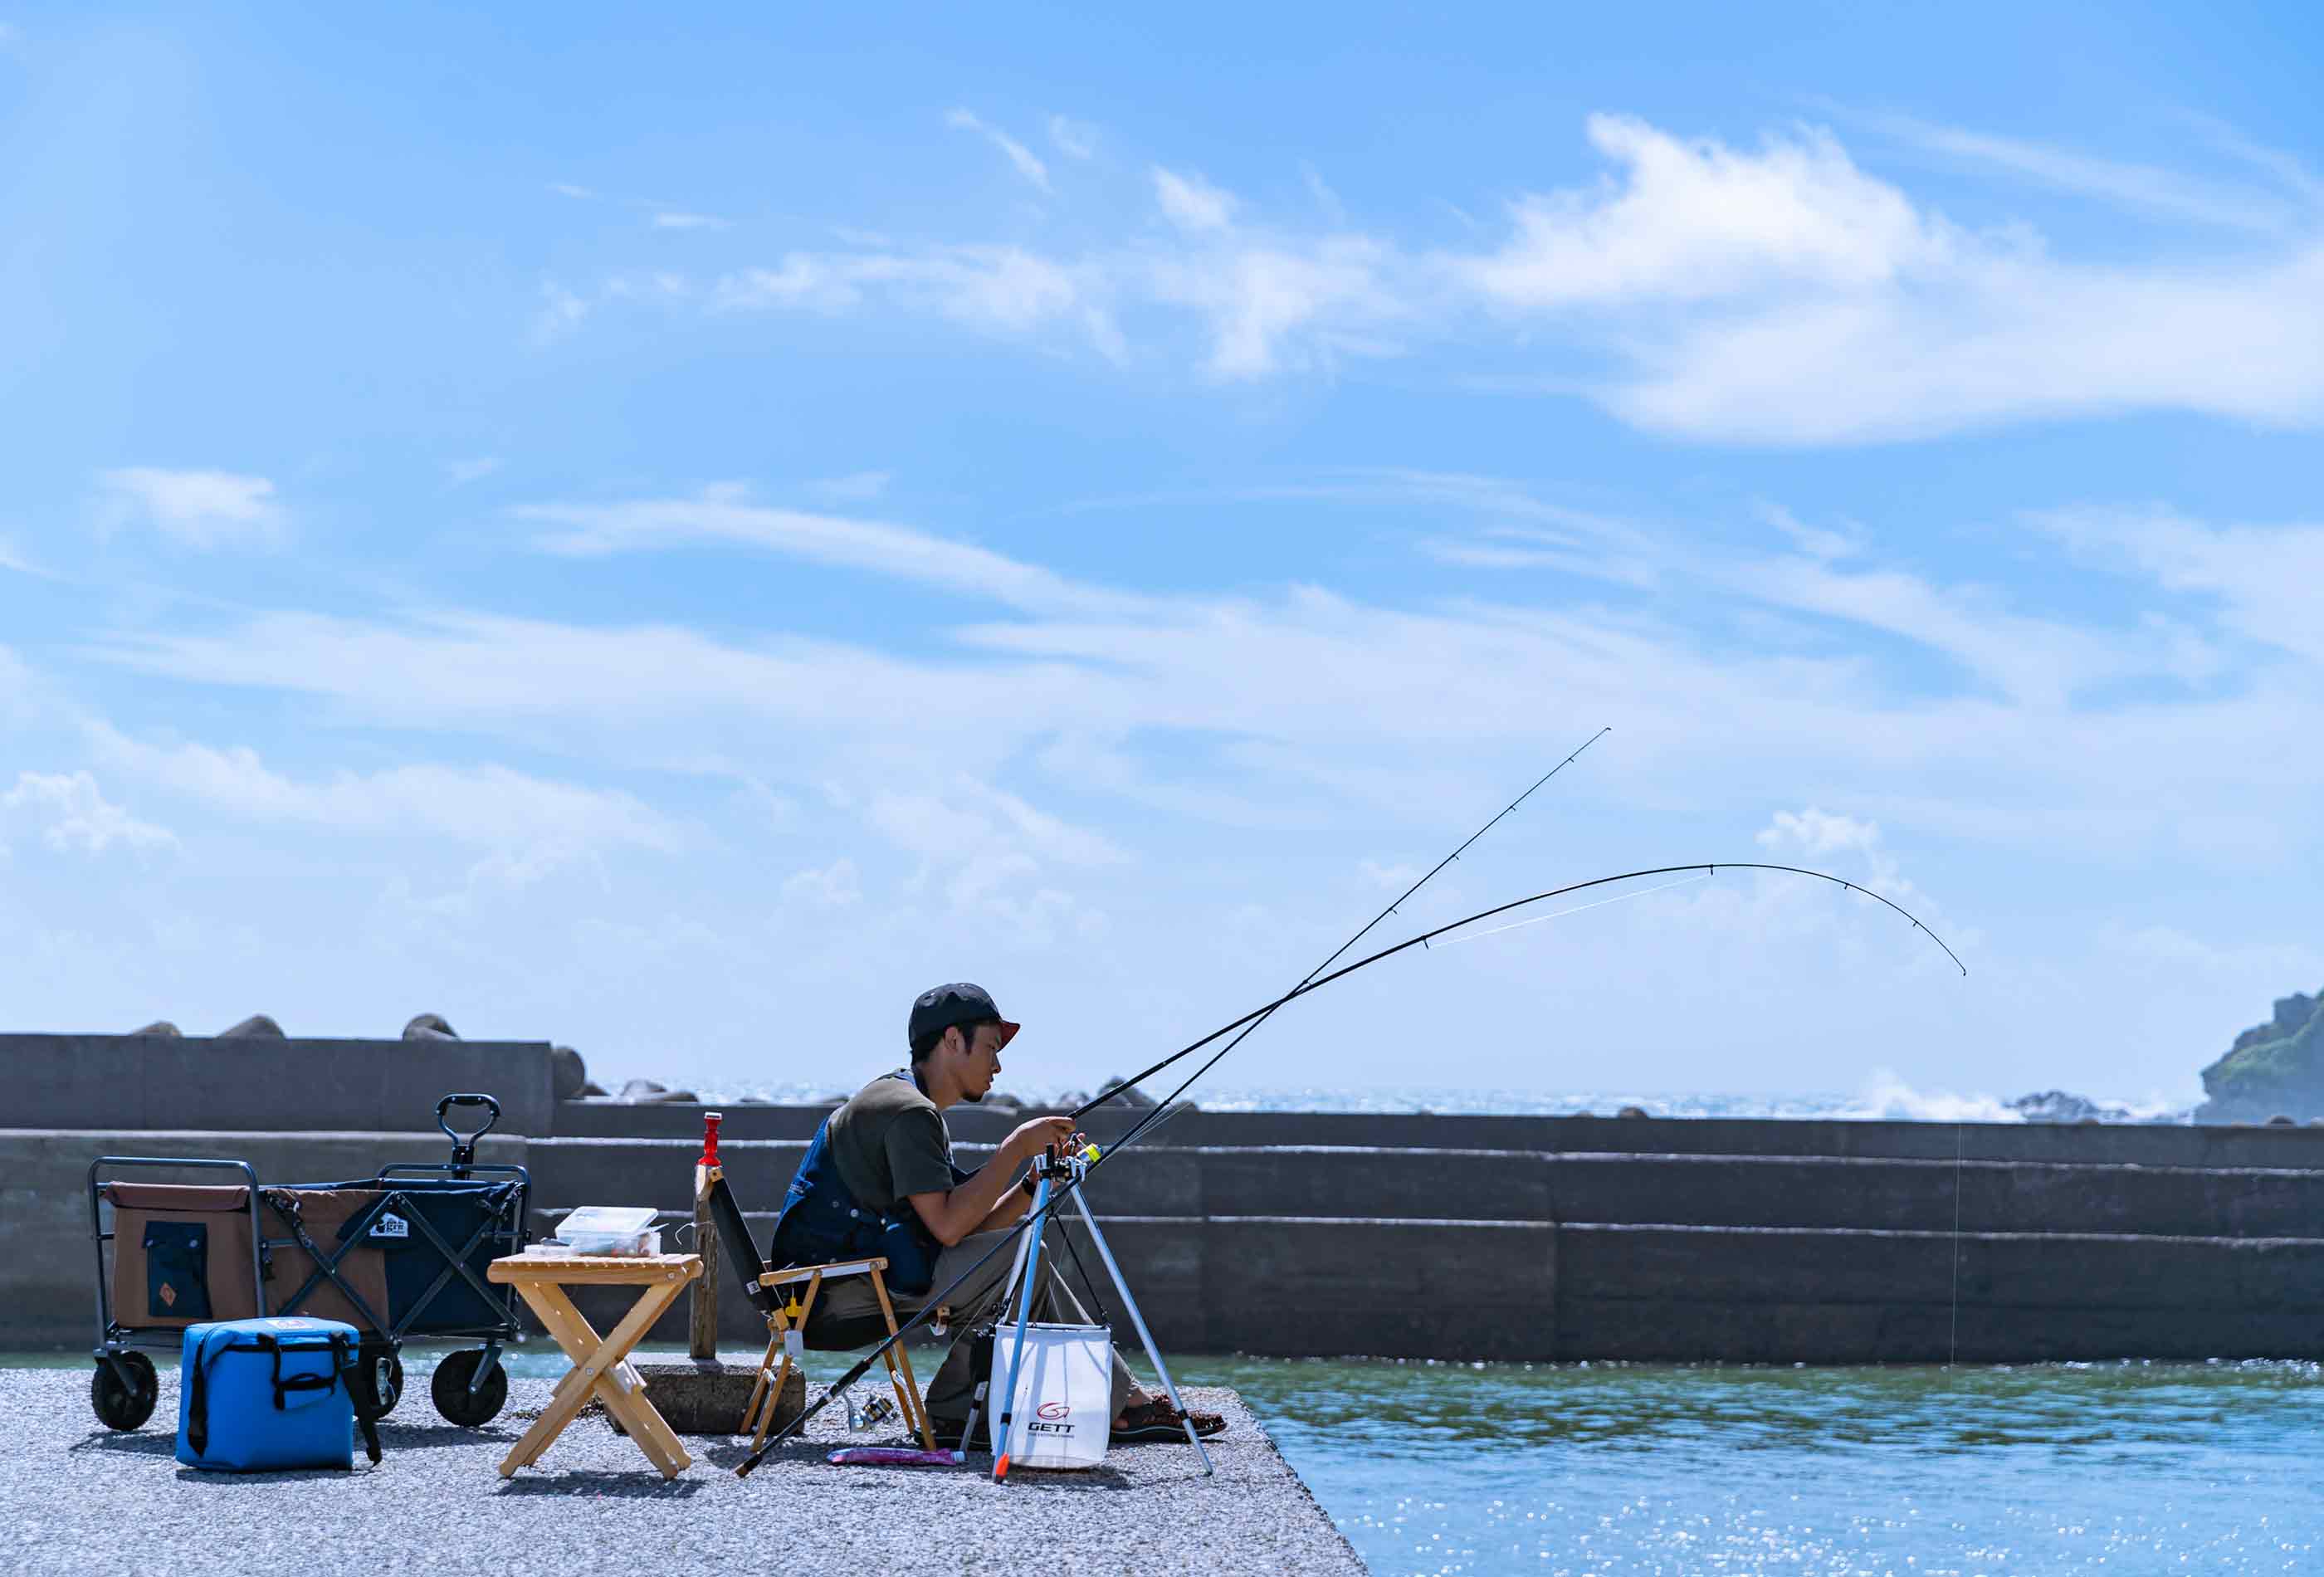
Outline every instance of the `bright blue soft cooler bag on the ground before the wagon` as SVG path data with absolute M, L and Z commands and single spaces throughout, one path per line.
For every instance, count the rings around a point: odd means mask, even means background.
M 188 1468 L 263 1472 L 353 1468 L 360 1345 L 337 1319 L 218 1319 L 186 1326 L 177 1387 L 177 1459 Z M 360 1419 L 379 1461 L 379 1428 Z

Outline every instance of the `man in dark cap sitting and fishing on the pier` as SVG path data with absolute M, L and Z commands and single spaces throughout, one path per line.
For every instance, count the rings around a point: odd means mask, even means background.
M 978 985 L 939 985 L 911 1003 L 911 1066 L 883 1073 L 832 1112 L 806 1159 L 799 1161 L 783 1212 L 774 1224 L 774 1263 L 830 1263 L 888 1256 L 888 1289 L 902 1310 L 918 1310 L 944 1291 L 960 1335 L 927 1384 L 927 1417 L 939 1440 L 957 1442 L 976 1398 L 969 1331 L 1002 1312 L 1002 1282 L 1016 1252 L 992 1252 L 1032 1205 L 1027 1164 L 1074 1138 L 1069 1117 L 1018 1124 L 978 1171 L 953 1166 L 953 1136 L 944 1112 L 960 1101 L 983 1101 L 1002 1071 L 1002 1047 L 1018 1027 L 999 1015 Z M 1027 1168 L 1023 1178 L 1018 1171 Z M 988 1256 L 990 1254 L 990 1256 Z M 969 1280 L 953 1287 L 983 1259 Z M 869 1282 L 825 1284 L 818 1315 L 860 1319 L 876 1312 Z M 1039 1268 L 1032 1317 L 1092 1324 L 1081 1303 L 1046 1263 Z M 997 1394 L 997 1384 L 995 1384 Z M 1215 1412 L 1192 1414 L 1195 1431 L 1225 1428 Z M 1148 1396 L 1113 1352 L 1113 1438 L 1169 1440 L 1181 1435 L 1178 1410 Z

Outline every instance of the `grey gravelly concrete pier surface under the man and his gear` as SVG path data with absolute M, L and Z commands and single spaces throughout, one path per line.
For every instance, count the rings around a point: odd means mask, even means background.
M 407 1382 L 409 1384 L 409 1382 Z M 435 1417 L 421 1380 L 381 1428 L 386 1461 L 353 1472 L 195 1472 L 177 1447 L 177 1373 L 116 1435 L 88 1407 L 88 1370 L 0 1370 L 0 1570 L 9 1572 L 1362 1572 L 1355 1549 L 1234 1391 L 1190 1389 L 1222 1412 L 1202 1477 L 1178 1442 L 1116 1447 L 1092 1472 L 834 1468 L 851 1435 L 830 1407 L 811 1440 L 748 1479 L 746 1440 L 688 1438 L 674 1482 L 604 1417 L 586 1417 L 535 1468 L 500 1459 L 548 1400 L 511 1380 L 481 1431 Z M 978 1470 L 983 1466 L 983 1470 Z

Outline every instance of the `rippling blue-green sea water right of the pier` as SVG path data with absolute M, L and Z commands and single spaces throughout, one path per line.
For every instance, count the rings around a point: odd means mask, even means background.
M 1185 1359 L 1390 1572 L 2324 1572 L 2315 1363 Z

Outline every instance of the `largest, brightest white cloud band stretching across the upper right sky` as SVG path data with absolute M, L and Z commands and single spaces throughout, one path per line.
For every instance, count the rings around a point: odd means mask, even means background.
M 1167 334 L 1169 316 L 1150 309 L 1176 309 L 1197 325 L 1208 372 L 1239 381 L 1339 355 L 1485 346 L 1548 367 L 1494 374 L 1499 388 L 1580 395 L 1638 427 L 1741 444 L 2140 409 L 2324 420 L 2324 244 L 2298 228 L 2217 255 L 2075 260 L 2024 225 L 1948 221 L 1820 128 L 1731 146 L 1599 114 L 1585 132 L 1611 174 L 1515 200 L 1508 232 L 1485 249 L 1418 253 L 1343 232 L 1327 188 L 1329 232 L 1262 228 L 1232 193 L 1153 165 L 1164 235 L 1078 255 L 1013 244 L 790 253 L 723 279 L 709 300 L 823 314 L 895 304 L 1011 337 L 1067 330 L 1113 360 L 1129 358 L 1125 316 Z M 2045 163 L 2017 144 L 1978 151 L 2064 183 L 2110 183 L 2157 211 L 2178 204 L 2189 223 L 2231 218 L 2231 207 L 2205 209 L 2196 181 Z

